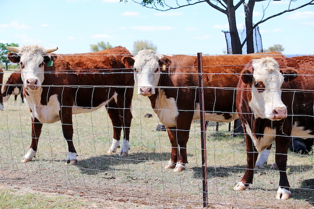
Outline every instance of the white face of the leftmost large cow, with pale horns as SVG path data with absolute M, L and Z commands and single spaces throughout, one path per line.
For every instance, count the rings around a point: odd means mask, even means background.
M 17 52 L 9 53 L 8 59 L 13 63 L 20 63 L 21 78 L 26 90 L 36 90 L 41 87 L 44 81 L 44 67 L 50 61 L 47 52 L 55 49 L 45 49 L 41 46 L 7 47 L 8 50 Z

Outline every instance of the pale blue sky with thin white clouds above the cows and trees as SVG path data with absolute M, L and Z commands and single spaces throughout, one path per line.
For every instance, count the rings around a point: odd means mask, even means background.
M 285 10 L 288 3 L 270 1 L 265 17 Z M 206 3 L 168 12 L 143 8 L 130 0 L 2 0 L 0 8 L 1 43 L 58 47 L 59 54 L 90 52 L 90 44 L 101 41 L 132 52 L 136 40 L 152 42 L 161 54 L 215 55 L 226 51 L 221 31 L 229 30 L 227 16 Z M 253 22 L 260 21 L 262 15 L 262 4 L 257 2 Z M 238 29 L 244 21 L 240 6 Z M 280 44 L 286 55 L 314 54 L 314 6 L 286 13 L 259 27 L 264 49 Z

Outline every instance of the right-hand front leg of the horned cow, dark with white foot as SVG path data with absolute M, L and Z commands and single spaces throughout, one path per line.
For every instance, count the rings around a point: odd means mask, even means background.
M 77 163 L 77 153 L 73 144 L 73 123 L 72 123 L 72 107 L 62 106 L 60 110 L 60 119 L 62 125 L 62 132 L 65 140 L 68 143 L 68 157 L 66 163 L 74 165 Z

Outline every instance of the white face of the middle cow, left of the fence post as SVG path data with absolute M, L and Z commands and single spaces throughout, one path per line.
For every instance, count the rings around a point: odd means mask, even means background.
M 123 63 L 125 60 L 129 63 L 126 63 L 127 68 L 133 66 L 134 80 L 138 87 L 137 94 L 148 97 L 155 94 L 161 76 L 159 60 L 162 57 L 152 50 L 141 50 L 135 57 L 122 58 Z

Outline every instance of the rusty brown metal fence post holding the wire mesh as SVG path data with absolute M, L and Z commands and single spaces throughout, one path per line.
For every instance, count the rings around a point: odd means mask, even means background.
M 207 188 L 206 129 L 207 129 L 208 121 L 205 121 L 202 53 L 197 54 L 197 59 L 198 59 L 197 61 L 198 61 L 198 70 L 199 70 L 199 100 L 200 100 L 200 114 L 201 114 L 203 207 L 207 207 L 208 206 L 208 188 Z

